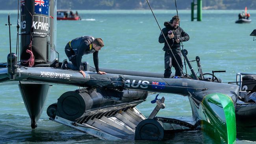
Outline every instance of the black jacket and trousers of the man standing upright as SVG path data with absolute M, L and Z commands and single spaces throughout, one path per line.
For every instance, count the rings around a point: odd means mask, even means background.
M 158 41 L 160 43 L 165 43 L 163 46 L 163 51 L 165 51 L 165 73 L 164 73 L 164 78 L 170 78 L 171 76 L 171 67 L 173 66 L 175 68 L 175 76 L 181 76 L 181 71 L 178 65 L 183 69 L 183 63 L 182 63 L 182 54 L 180 52 L 180 43 L 181 41 L 188 41 L 189 40 L 189 35 L 179 26 L 177 28 L 174 28 L 171 26 L 170 22 L 165 22 L 164 23 L 165 28 L 162 29 L 163 34 L 160 33 Z M 172 30 L 174 34 L 173 39 L 169 39 L 168 37 L 168 31 Z M 178 61 L 178 65 L 173 57 L 173 55 L 170 52 L 170 49 L 165 42 L 164 37 L 167 39 L 167 42 L 169 46 L 171 47 L 171 50 L 175 56 L 175 58 Z M 175 40 L 180 39 L 180 43 L 177 43 Z

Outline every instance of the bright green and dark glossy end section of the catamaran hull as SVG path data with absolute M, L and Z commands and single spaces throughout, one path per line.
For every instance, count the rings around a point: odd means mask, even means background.
M 232 99 L 220 93 L 208 94 L 202 100 L 202 131 L 218 143 L 236 143 L 236 113 Z

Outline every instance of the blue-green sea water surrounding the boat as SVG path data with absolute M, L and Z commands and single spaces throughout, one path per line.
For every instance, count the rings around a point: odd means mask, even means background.
M 191 60 L 200 57 L 203 73 L 212 70 L 226 70 L 216 74 L 223 82 L 235 81 L 237 72 L 256 73 L 256 41 L 250 33 L 256 29 L 256 10 L 250 10 L 250 24 L 235 24 L 242 10 L 205 10 L 201 22 L 191 21 L 190 10 L 180 10 L 180 26 L 189 34 L 184 42 Z M 9 29 L 7 14 L 11 13 L 11 44 L 16 51 L 17 11 L 0 10 L 0 62 L 6 62 L 9 53 Z M 154 11 L 161 28 L 169 21 L 174 10 Z M 100 68 L 136 70 L 140 72 L 164 71 L 163 44 L 158 43 L 160 29 L 150 10 L 84 10 L 78 11 L 80 21 L 57 21 L 57 48 L 59 58 L 66 59 L 64 47 L 68 41 L 82 35 L 101 37 L 105 46 L 99 53 Z M 83 61 L 93 66 L 92 55 L 84 55 Z M 196 63 L 193 67 L 197 70 Z M 187 68 L 189 70 L 189 68 Z M 174 70 L 173 70 L 174 71 Z M 190 72 L 188 71 L 190 74 Z M 36 129 L 30 128 L 30 118 L 24 106 L 17 85 L 0 85 L 0 143 L 22 144 L 150 144 L 151 141 L 103 141 L 69 127 L 48 120 L 48 105 L 57 102 L 61 94 L 78 87 L 54 85 L 48 96 L 43 114 Z M 147 117 L 155 105 L 150 101 L 156 94 L 150 94 L 146 102 L 137 108 Z M 157 116 L 173 116 L 189 119 L 192 116 L 187 97 L 160 93 L 165 97 L 166 108 Z M 237 134 L 237 144 L 254 143 L 256 137 Z M 251 138 L 249 138 L 251 137 Z M 178 133 L 166 144 L 202 143 L 200 131 Z M 247 140 L 246 140 L 247 139 Z M 249 140 L 248 140 L 249 139 Z M 256 142 L 255 142 L 256 143 Z

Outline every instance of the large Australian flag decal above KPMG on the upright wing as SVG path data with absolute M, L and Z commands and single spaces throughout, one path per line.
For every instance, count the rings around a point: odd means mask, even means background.
M 35 0 L 35 13 L 49 15 L 49 0 Z

